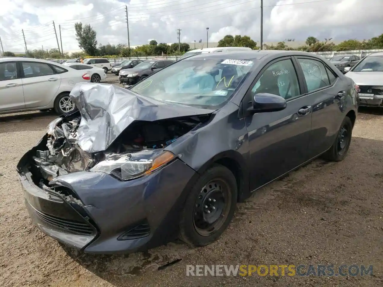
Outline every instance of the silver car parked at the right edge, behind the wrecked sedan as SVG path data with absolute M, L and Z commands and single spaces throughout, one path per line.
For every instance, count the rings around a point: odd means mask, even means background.
M 364 57 L 346 76 L 359 86 L 360 106 L 383 107 L 383 52 Z

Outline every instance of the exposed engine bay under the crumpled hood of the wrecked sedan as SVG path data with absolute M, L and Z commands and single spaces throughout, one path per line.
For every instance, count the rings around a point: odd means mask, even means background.
M 57 176 L 87 171 L 100 161 L 116 154 L 165 148 L 207 119 L 206 116 L 193 116 L 154 122 L 135 121 L 113 141 L 107 150 L 96 153 L 85 152 L 77 145 L 77 129 L 80 126 L 81 116 L 58 119 L 54 122 L 55 126 L 48 128 L 46 149 L 37 150 L 36 155 L 33 156 L 34 166 L 39 169 L 47 183 Z M 43 145 L 44 142 L 39 147 Z

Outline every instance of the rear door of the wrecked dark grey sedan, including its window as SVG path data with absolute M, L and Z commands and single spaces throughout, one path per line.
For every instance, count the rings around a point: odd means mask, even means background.
M 324 61 L 296 57 L 304 78 L 306 98 L 313 107 L 309 155 L 315 157 L 331 147 L 344 119 L 348 83 Z

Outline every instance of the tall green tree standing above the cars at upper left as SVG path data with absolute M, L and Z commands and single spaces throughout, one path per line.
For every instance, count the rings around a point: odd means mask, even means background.
M 83 26 L 81 22 L 75 23 L 74 28 L 79 47 L 88 55 L 96 56 L 98 54 L 97 32 L 89 24 Z

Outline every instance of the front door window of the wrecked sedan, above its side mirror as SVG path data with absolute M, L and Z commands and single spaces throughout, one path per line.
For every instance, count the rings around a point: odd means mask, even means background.
M 252 88 L 252 94 L 269 93 L 284 99 L 301 95 L 298 77 L 290 59 L 278 61 L 268 67 Z

